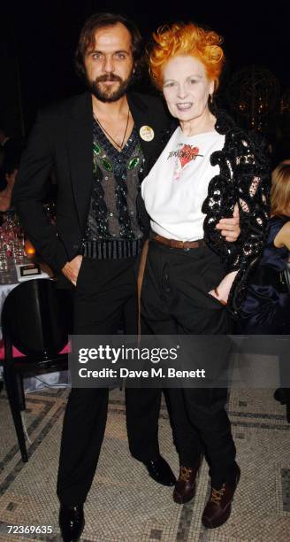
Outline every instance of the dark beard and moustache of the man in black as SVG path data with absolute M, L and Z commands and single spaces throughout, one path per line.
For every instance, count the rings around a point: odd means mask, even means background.
M 127 79 L 122 79 L 115 74 L 105 74 L 96 77 L 95 81 L 88 81 L 88 90 L 98 99 L 100 102 L 117 102 L 121 97 L 125 96 L 126 91 L 132 81 L 132 73 Z M 118 81 L 118 89 L 112 90 L 111 87 L 103 86 L 103 81 Z

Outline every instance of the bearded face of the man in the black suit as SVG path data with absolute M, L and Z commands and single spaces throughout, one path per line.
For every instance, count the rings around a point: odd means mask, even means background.
M 126 94 L 132 79 L 132 39 L 124 25 L 98 28 L 95 45 L 84 59 L 88 89 L 101 102 L 115 102 Z

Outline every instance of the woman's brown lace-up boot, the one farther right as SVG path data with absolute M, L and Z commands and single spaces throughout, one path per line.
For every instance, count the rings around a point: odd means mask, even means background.
M 231 515 L 233 494 L 239 484 L 240 468 L 236 466 L 236 477 L 233 484 L 225 482 L 219 489 L 211 488 L 210 499 L 202 514 L 202 525 L 207 529 L 215 529 L 223 525 Z

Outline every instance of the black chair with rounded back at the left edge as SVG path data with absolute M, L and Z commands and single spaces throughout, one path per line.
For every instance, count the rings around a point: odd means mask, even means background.
M 25 410 L 23 376 L 67 368 L 67 353 L 59 353 L 72 332 L 72 298 L 50 279 L 32 279 L 11 290 L 4 301 L 4 383 L 19 440 L 22 461 L 28 461 L 21 418 Z M 13 357 L 16 347 L 25 357 Z

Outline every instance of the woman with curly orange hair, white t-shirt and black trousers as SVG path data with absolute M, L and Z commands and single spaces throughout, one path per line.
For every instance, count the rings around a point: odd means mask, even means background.
M 260 139 L 212 106 L 225 61 L 221 42 L 192 23 L 174 24 L 156 32 L 149 58 L 152 79 L 179 121 L 141 184 L 152 229 L 141 310 L 158 335 L 230 333 L 231 315 L 239 314 L 248 272 L 263 248 L 268 162 Z M 230 244 L 216 225 L 237 206 L 241 233 Z M 208 528 L 228 519 L 240 478 L 226 395 L 225 389 L 169 390 L 180 461 L 173 499 L 193 498 L 205 453 L 211 493 L 202 523 Z

